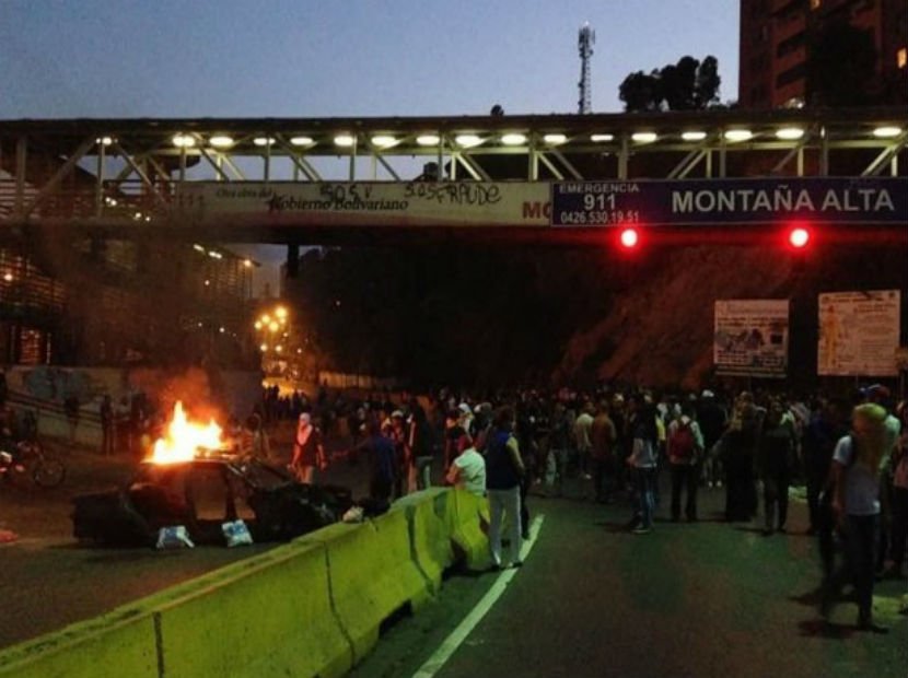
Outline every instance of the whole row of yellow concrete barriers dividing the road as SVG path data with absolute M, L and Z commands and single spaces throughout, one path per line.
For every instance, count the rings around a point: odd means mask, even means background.
M 418 610 L 465 545 L 488 559 L 485 500 L 446 489 L 337 524 L 133 604 L 0 652 L 0 677 L 294 675 L 333 678 L 381 624 Z

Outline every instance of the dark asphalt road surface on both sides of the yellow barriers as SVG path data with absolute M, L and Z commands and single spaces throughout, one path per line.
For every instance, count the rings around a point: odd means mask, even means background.
M 0 527 L 22 536 L 0 547 L 0 647 L 270 548 L 79 546 L 70 537 L 69 496 L 127 478 L 131 465 L 84 453 L 68 461 L 70 478 L 57 490 L 0 488 Z M 339 464 L 325 479 L 361 487 L 364 472 Z M 581 488 L 568 490 L 577 498 Z M 624 529 L 627 505 L 532 495 L 531 512 L 543 521 L 524 566 L 503 580 L 450 576 L 436 600 L 388 627 L 352 677 L 417 675 L 501 587 L 475 629 L 422 678 L 908 676 L 908 618 L 896 613 L 908 583 L 877 584 L 876 617 L 890 626 L 888 634 L 857 632 L 853 603 L 842 603 L 824 631 L 814 599 L 816 545 L 800 534 L 804 506 L 793 505 L 790 534 L 763 537 L 756 524 L 720 522 L 721 502 L 721 490 L 703 490 L 700 523 L 659 521 L 652 534 L 633 536 Z M 664 504 L 657 516 L 665 516 Z

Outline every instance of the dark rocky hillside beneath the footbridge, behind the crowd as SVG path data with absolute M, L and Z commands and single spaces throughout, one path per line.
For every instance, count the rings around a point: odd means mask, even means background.
M 349 248 L 309 256 L 291 294 L 326 367 L 414 385 L 698 387 L 712 376 L 717 300 L 790 299 L 793 383 L 816 382 L 824 291 L 900 289 L 908 247 Z M 908 329 L 903 328 L 903 342 Z

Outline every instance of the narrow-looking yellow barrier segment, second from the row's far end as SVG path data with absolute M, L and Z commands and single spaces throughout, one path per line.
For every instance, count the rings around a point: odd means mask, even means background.
M 442 574 L 454 564 L 454 549 L 447 521 L 451 490 L 432 488 L 395 502 L 404 511 L 410 530 L 411 557 L 428 578 L 430 591 L 441 588 Z

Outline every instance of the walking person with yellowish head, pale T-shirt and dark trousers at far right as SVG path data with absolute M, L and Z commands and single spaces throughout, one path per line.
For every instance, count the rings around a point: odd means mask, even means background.
M 839 440 L 833 457 L 833 514 L 843 536 L 845 564 L 823 585 L 820 615 L 829 618 L 843 584 L 858 596 L 858 628 L 885 632 L 873 622 L 874 551 L 880 527 L 880 461 L 886 454 L 886 409 L 866 402 L 854 408 L 851 435 Z

